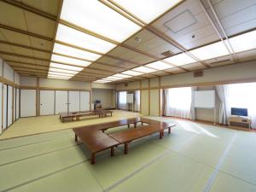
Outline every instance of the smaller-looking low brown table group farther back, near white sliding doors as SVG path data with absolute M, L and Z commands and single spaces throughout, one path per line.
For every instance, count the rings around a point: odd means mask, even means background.
M 84 112 L 70 112 L 70 113 L 59 113 L 61 122 L 65 122 L 65 119 L 79 120 L 82 116 L 91 116 L 98 115 L 99 118 L 107 117 L 109 114 L 112 116 L 112 111 L 104 110 L 104 109 L 96 109 L 92 111 L 84 111 Z

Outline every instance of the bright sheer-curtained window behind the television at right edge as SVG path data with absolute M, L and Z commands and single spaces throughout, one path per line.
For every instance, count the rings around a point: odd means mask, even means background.
M 252 119 L 252 127 L 256 128 L 256 83 L 227 84 L 228 113 L 230 108 L 247 108 Z

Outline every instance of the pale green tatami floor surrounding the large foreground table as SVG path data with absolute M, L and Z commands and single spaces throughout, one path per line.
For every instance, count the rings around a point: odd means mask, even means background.
M 93 166 L 71 130 L 0 141 L 0 191 L 256 191 L 255 133 L 154 119 L 177 126 L 162 140 L 156 134 L 131 143 L 129 154 L 123 146 L 113 157 L 97 154 Z

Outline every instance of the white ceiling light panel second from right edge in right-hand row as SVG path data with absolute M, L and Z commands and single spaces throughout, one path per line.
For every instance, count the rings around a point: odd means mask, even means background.
M 209 44 L 207 46 L 191 50 L 190 53 L 202 61 L 230 54 L 223 42 Z

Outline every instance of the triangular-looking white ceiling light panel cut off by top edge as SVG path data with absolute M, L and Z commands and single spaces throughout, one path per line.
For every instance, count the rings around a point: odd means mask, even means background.
M 181 2 L 181 0 L 113 0 L 113 2 L 118 3 L 121 7 L 131 12 L 132 15 L 136 15 L 137 18 L 148 24 L 164 14 L 166 10 Z

